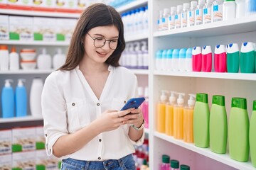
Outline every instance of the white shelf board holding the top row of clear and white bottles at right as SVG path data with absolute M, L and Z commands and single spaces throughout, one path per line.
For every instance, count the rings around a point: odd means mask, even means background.
M 156 31 L 154 37 L 206 37 L 215 35 L 227 35 L 233 33 L 245 33 L 255 31 L 256 16 L 246 16 L 245 18 L 235 18 L 229 21 L 219 21 L 207 23 L 199 26 L 178 28 L 174 30 Z

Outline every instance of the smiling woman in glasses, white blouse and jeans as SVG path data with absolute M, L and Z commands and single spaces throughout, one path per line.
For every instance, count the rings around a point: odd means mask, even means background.
M 139 108 L 119 111 L 137 96 L 137 78 L 118 64 L 124 47 L 119 13 L 93 4 L 78 20 L 65 64 L 46 79 L 46 151 L 62 157 L 62 169 L 135 169 L 144 119 Z

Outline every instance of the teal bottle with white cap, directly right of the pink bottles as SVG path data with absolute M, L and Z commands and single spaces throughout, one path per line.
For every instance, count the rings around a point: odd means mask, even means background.
M 227 48 L 227 70 L 228 72 L 237 73 L 240 65 L 240 52 L 237 43 L 228 45 Z

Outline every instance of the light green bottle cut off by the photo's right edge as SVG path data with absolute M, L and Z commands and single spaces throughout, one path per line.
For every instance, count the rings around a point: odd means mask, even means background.
M 250 118 L 249 142 L 250 142 L 250 155 L 252 159 L 252 166 L 256 168 L 256 101 L 253 101 L 253 105 L 252 105 L 252 115 Z

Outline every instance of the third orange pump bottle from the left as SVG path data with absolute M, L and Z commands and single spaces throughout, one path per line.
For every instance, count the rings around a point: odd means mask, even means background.
M 178 93 L 177 105 L 174 106 L 174 138 L 183 139 L 183 104 L 185 94 Z

